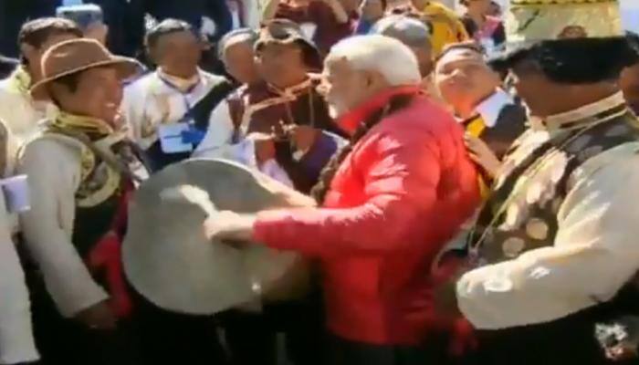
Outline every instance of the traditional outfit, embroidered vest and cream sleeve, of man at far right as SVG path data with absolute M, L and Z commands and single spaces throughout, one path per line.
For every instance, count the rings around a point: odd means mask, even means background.
M 639 309 L 637 120 L 619 93 L 542 124 L 479 214 L 458 306 L 482 364 L 607 364 L 595 323 Z

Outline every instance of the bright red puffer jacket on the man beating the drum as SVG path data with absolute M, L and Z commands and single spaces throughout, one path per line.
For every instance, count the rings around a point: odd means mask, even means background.
M 372 111 L 361 106 L 342 127 Z M 258 215 L 257 242 L 319 256 L 334 334 L 410 345 L 429 329 L 455 326 L 435 315 L 430 266 L 480 200 L 462 136 L 449 113 L 416 97 L 357 143 L 323 208 Z

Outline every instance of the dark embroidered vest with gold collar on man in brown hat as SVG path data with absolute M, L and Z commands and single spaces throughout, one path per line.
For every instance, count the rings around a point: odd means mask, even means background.
M 101 153 L 123 162 L 131 171 L 139 170 L 141 160 L 124 139 L 124 133 L 116 133 L 102 120 L 61 112 L 47 125 L 41 138 L 47 135 L 88 138 L 80 141 L 83 148 L 72 241 L 96 280 L 108 287 L 115 313 L 126 317 L 132 305 L 121 266 L 120 242 L 126 232 L 127 204 L 134 182 L 86 143 L 93 143 Z

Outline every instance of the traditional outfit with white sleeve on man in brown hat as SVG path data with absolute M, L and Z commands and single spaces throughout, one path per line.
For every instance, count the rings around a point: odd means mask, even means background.
M 18 171 L 28 175 L 32 199 L 23 234 L 35 264 L 29 284 L 46 363 L 137 361 L 120 260 L 133 179 L 146 173 L 134 151 L 105 122 L 61 113 L 22 153 Z M 117 330 L 91 330 L 70 319 L 104 300 L 120 317 Z

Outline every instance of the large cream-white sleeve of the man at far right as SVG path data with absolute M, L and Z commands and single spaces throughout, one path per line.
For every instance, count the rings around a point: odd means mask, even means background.
M 457 303 L 475 327 L 563 318 L 610 300 L 631 280 L 639 269 L 639 144 L 629 145 L 602 153 L 599 166 L 582 166 L 560 207 L 553 246 L 461 277 Z

